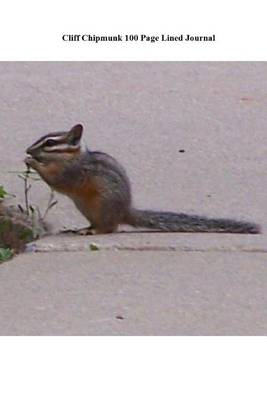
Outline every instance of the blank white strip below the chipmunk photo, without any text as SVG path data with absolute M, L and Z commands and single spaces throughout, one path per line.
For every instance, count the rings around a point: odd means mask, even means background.
M 20 337 L 0 351 L 5 400 L 266 400 L 266 338 Z

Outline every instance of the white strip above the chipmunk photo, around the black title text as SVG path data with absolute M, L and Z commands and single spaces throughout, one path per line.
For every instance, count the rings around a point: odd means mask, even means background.
M 264 2 L 9 0 L 1 60 L 266 60 Z M 4 10 L 3 10 L 4 8 Z M 63 42 L 63 34 L 216 34 L 216 42 Z

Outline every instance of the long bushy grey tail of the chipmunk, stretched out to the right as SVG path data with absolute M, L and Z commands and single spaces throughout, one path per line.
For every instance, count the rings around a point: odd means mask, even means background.
M 165 232 L 221 232 L 260 233 L 260 226 L 251 222 L 232 219 L 213 219 L 198 215 L 178 214 L 150 210 L 131 209 L 125 223 Z

